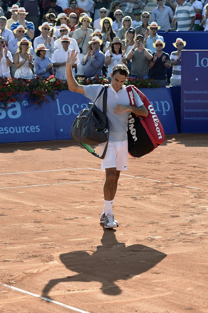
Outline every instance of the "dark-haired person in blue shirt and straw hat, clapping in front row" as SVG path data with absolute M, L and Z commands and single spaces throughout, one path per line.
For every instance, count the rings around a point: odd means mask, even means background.
M 38 44 L 35 49 L 37 57 L 34 59 L 34 73 L 38 77 L 49 77 L 53 73 L 51 59 L 46 56 L 46 46 Z

